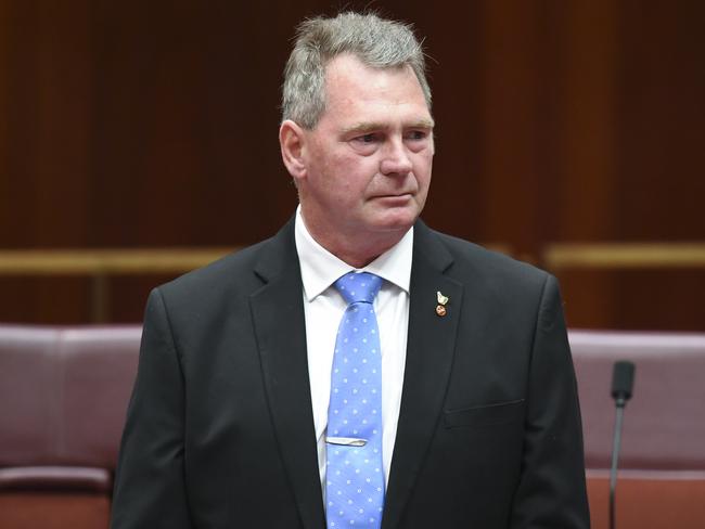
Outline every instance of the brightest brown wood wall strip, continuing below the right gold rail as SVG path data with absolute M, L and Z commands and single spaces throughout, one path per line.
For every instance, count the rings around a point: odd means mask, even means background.
M 556 46 L 563 49 L 560 66 L 549 75 L 556 82 L 560 108 L 553 153 L 555 188 L 547 222 L 553 233 L 542 242 L 604 241 L 614 225 L 616 181 L 615 106 L 617 98 L 616 3 L 564 2 L 554 27 L 560 28 Z M 557 73 L 557 78 L 555 74 Z M 551 206 L 554 205 L 554 208 Z M 561 276 L 561 280 L 563 278 Z M 582 273 L 577 283 L 563 282 L 568 323 L 575 326 L 610 327 L 614 292 L 613 274 Z M 618 325 L 621 325 L 619 323 Z

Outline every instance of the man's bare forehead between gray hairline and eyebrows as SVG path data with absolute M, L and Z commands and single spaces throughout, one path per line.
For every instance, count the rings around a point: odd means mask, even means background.
M 419 79 L 409 65 L 375 68 L 351 54 L 338 55 L 325 68 L 325 114 L 409 115 L 431 119 Z

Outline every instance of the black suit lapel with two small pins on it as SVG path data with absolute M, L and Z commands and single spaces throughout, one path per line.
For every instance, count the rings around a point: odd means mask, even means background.
M 382 529 L 398 527 L 436 429 L 448 385 L 463 287 L 445 275 L 452 258 L 421 221 L 414 228 L 409 335 L 399 423 Z M 449 298 L 436 313 L 436 293 Z

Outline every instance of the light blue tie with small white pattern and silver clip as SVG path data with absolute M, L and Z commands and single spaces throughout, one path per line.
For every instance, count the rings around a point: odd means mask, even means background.
M 329 528 L 382 525 L 382 354 L 372 306 L 381 286 L 382 279 L 368 272 L 335 282 L 348 306 L 335 340 L 328 409 Z

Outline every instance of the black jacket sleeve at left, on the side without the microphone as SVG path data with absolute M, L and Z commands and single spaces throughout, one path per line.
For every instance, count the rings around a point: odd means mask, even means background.
M 164 299 L 154 289 L 123 433 L 111 527 L 190 528 L 183 457 L 184 380 Z

